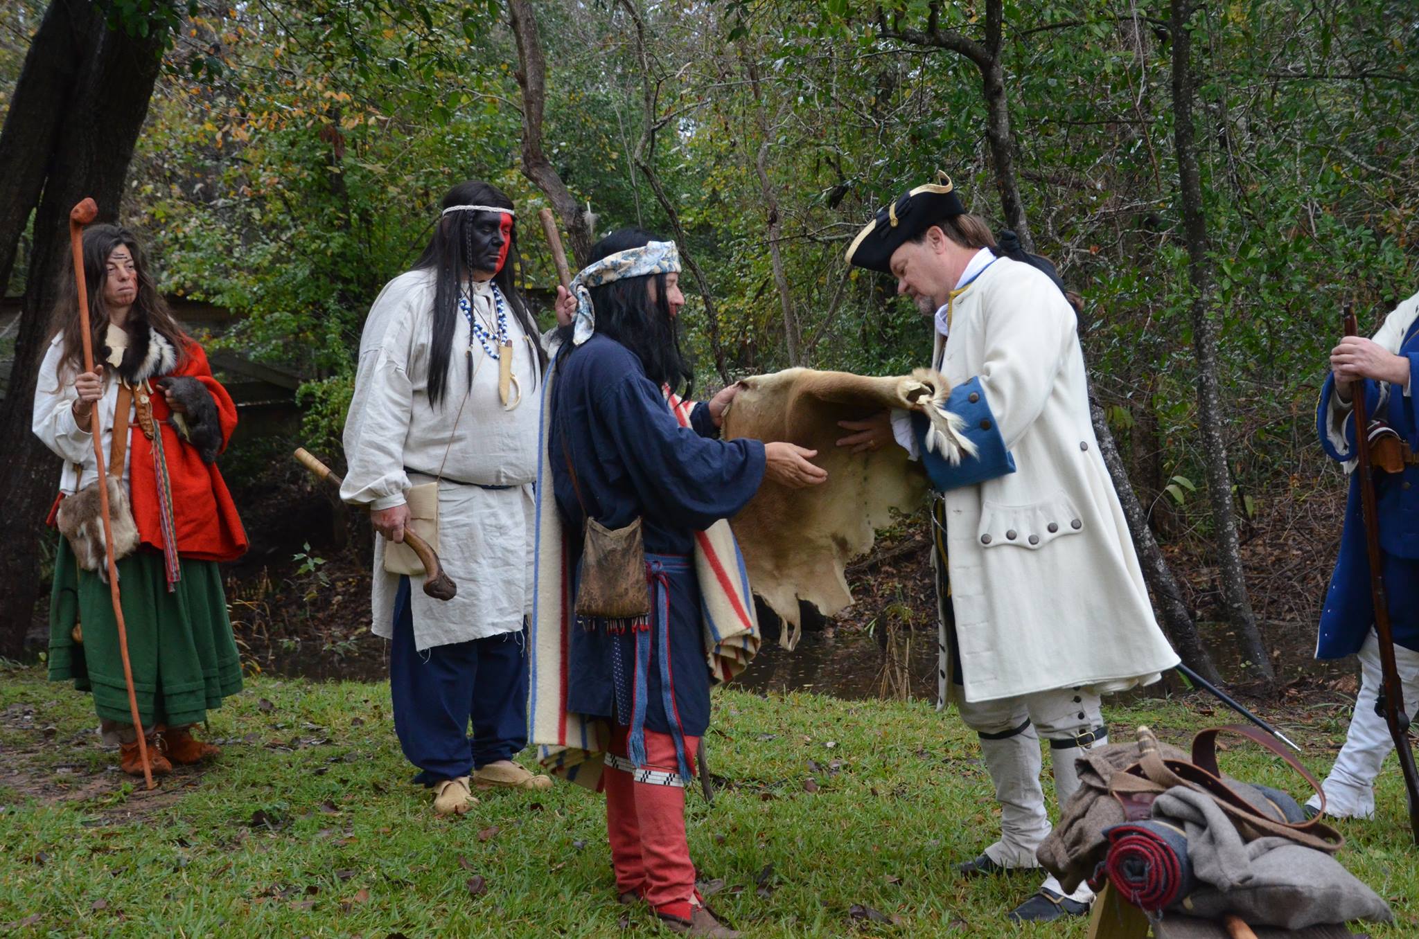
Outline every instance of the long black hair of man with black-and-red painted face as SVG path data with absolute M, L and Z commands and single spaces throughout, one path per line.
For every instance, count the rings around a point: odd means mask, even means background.
M 450 206 L 498 206 L 512 209 L 512 200 L 502 190 L 482 180 L 468 180 L 458 183 L 444 194 L 438 209 Z M 448 387 L 448 366 L 453 359 L 453 332 L 458 322 L 458 296 L 463 292 L 464 281 L 473 278 L 473 211 L 451 211 L 438 218 L 434 234 L 429 240 L 429 247 L 414 261 L 416 271 L 433 270 L 437 272 L 434 284 L 434 318 L 433 336 L 429 346 L 429 404 L 437 407 Z M 512 233 L 508 235 L 508 257 L 502 262 L 492 282 L 502 291 L 502 296 L 512 308 L 512 315 L 518 318 L 522 332 L 532 340 L 536 350 L 538 366 L 546 367 L 546 352 L 538 342 L 541 330 L 526 304 L 514 287 L 514 267 L 521 264 L 518 257 L 518 224 L 512 220 Z M 521 353 L 514 349 L 514 353 Z M 468 384 L 473 386 L 473 363 L 468 363 Z

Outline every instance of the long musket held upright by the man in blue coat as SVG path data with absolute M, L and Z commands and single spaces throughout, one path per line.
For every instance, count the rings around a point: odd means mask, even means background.
M 1359 329 L 1355 323 L 1352 304 L 1345 304 L 1345 335 L 1355 336 Z M 1389 601 L 1385 597 L 1385 576 L 1381 567 L 1379 553 L 1379 512 L 1375 508 L 1375 477 L 1371 475 L 1369 465 L 1369 416 L 1365 401 L 1365 380 L 1355 379 L 1349 383 L 1349 400 L 1355 409 L 1355 458 L 1359 475 L 1359 505 L 1365 519 L 1365 549 L 1369 555 L 1369 597 L 1375 607 L 1375 634 L 1379 637 L 1379 699 L 1375 702 L 1375 712 L 1385 718 L 1389 725 L 1389 736 L 1395 740 L 1395 752 L 1399 755 L 1399 769 L 1403 770 L 1405 790 L 1409 797 L 1409 827 L 1413 830 L 1415 844 L 1419 844 L 1419 773 L 1415 772 L 1415 755 L 1409 749 L 1409 715 L 1405 712 L 1405 689 L 1399 681 L 1399 669 L 1395 667 L 1395 637 L 1389 628 Z

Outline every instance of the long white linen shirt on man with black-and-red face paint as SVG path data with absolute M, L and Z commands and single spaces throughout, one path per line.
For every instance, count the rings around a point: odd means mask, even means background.
M 532 606 L 532 481 L 541 391 L 532 343 L 538 338 L 528 338 L 508 311 L 512 373 L 522 399 L 505 410 L 498 396 L 498 363 L 473 335 L 467 318 L 458 316 L 448 382 L 433 407 L 433 299 L 434 274 L 409 271 L 385 285 L 370 308 L 345 421 L 349 472 L 341 487 L 346 502 L 387 509 L 404 502 L 410 485 L 441 477 L 438 559 L 458 593 L 434 600 L 424 594 L 421 576 L 410 577 L 419 651 L 519 631 Z M 474 315 L 494 322 L 492 292 L 485 284 L 474 288 Z M 490 485 L 511 488 L 481 488 Z M 375 635 L 393 637 L 397 589 L 399 574 L 385 572 L 385 539 L 376 535 L 370 591 Z

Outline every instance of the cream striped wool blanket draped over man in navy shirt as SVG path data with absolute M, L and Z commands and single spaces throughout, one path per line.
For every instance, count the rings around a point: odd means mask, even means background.
M 609 728 L 603 718 L 576 713 L 566 704 L 568 648 L 576 616 L 572 570 L 548 464 L 548 414 L 556 366 L 553 357 L 542 383 L 528 713 L 532 743 L 538 748 L 542 766 L 573 783 L 599 789 Z M 667 391 L 667 406 L 681 427 L 690 427 L 692 401 Z M 710 529 L 695 532 L 695 574 L 700 580 L 705 661 L 714 681 L 729 681 L 748 668 L 759 651 L 759 627 L 744 556 L 728 522 L 721 519 Z

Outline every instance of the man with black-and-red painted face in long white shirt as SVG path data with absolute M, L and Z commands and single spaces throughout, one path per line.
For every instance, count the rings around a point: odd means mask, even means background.
M 528 740 L 535 396 L 546 365 L 514 285 L 515 224 L 512 201 L 488 183 L 444 196 L 414 270 L 370 308 L 345 423 L 341 496 L 368 505 L 380 535 L 373 631 L 390 640 L 394 730 L 437 814 L 467 811 L 473 787 L 552 782 L 512 759 Z M 558 319 L 573 311 L 565 299 Z M 438 550 L 454 599 L 423 593 L 406 529 Z

